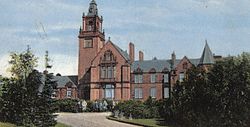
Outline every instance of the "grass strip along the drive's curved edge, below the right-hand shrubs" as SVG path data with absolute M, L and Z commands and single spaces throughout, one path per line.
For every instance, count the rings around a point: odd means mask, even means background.
M 165 124 L 165 122 L 161 119 L 117 119 L 114 117 L 107 117 L 109 120 L 115 120 L 118 122 L 133 124 L 133 125 L 139 125 L 144 127 L 169 127 Z

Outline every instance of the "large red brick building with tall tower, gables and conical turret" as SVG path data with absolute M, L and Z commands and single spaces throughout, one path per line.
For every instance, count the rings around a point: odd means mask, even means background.
M 214 63 L 214 56 L 206 43 L 201 58 L 144 60 L 139 52 L 135 60 L 135 47 L 129 43 L 129 54 L 110 39 L 105 40 L 103 17 L 98 15 L 97 4 L 92 0 L 87 15 L 83 13 L 79 31 L 78 97 L 88 100 L 113 99 L 146 100 L 167 98 L 169 87 L 185 78 L 192 66 L 205 69 Z M 64 95 L 63 95 L 64 96 Z

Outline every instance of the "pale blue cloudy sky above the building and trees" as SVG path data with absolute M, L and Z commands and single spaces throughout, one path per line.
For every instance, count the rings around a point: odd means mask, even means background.
M 106 39 L 145 59 L 199 58 L 205 39 L 216 55 L 250 52 L 249 0 L 96 0 Z M 40 71 L 48 50 L 54 73 L 77 74 L 78 31 L 90 0 L 1 0 L 0 75 L 9 53 L 27 45 L 38 56 Z M 136 54 L 138 55 L 138 53 Z

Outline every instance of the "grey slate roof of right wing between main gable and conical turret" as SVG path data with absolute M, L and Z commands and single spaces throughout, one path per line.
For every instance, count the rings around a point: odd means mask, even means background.
M 176 59 L 174 67 L 176 67 L 182 59 Z M 189 59 L 189 61 L 197 66 L 200 59 Z M 136 70 L 137 68 L 142 69 L 143 72 L 149 72 L 151 69 L 155 69 L 156 72 L 162 72 L 165 68 L 170 70 L 171 60 L 144 60 L 144 61 L 134 61 L 131 66 L 131 71 Z

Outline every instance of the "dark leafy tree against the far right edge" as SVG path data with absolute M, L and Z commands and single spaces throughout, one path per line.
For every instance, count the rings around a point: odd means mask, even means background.
M 214 65 L 209 73 L 214 121 L 221 127 L 246 127 L 250 119 L 250 54 L 243 53 Z

